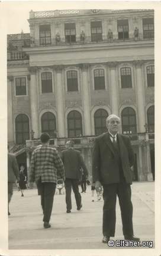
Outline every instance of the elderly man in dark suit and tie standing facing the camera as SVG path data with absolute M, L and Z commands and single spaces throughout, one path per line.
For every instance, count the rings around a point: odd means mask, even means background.
M 107 117 L 108 132 L 98 136 L 94 142 L 92 154 L 92 174 L 96 191 L 103 186 L 103 243 L 115 236 L 115 205 L 118 196 L 124 239 L 139 241 L 133 232 L 133 205 L 131 202 L 134 152 L 130 139 L 118 133 L 120 118 L 117 115 Z

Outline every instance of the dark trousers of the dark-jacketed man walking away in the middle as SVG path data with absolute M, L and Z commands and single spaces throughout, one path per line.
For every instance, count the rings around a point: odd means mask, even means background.
M 72 199 L 71 199 L 72 189 L 73 189 L 73 192 L 75 193 L 76 205 L 77 207 L 80 207 L 81 195 L 79 193 L 78 180 L 66 178 L 65 190 L 66 190 L 66 209 L 67 210 L 72 209 Z

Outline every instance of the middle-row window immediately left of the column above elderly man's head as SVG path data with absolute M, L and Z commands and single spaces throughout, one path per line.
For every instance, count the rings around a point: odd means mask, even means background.
M 103 68 L 94 70 L 95 90 L 105 89 L 105 74 Z

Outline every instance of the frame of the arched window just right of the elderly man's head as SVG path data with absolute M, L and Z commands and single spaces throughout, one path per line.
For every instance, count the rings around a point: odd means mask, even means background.
M 132 109 L 134 111 L 134 114 L 124 114 L 123 115 L 123 111 L 127 108 L 128 112 L 129 112 L 129 109 Z M 123 121 L 123 117 L 128 117 L 128 125 L 125 124 L 124 125 L 124 121 Z M 134 117 L 134 123 L 135 124 L 130 124 L 130 117 Z M 136 134 L 137 133 L 137 123 L 136 123 L 136 111 L 134 110 L 134 108 L 131 108 L 131 107 L 125 107 L 123 108 L 123 110 L 121 111 L 121 126 L 122 126 L 122 133 L 124 134 L 124 132 L 126 132 L 126 134 Z M 124 127 L 128 127 L 128 131 L 127 129 L 124 130 Z M 131 132 L 130 133 L 130 127 L 135 127 L 135 133 Z

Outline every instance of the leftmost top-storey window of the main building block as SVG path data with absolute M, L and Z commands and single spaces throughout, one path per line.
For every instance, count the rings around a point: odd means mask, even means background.
M 50 25 L 40 25 L 40 45 L 50 45 L 51 44 L 51 32 Z

